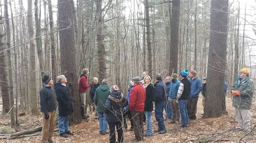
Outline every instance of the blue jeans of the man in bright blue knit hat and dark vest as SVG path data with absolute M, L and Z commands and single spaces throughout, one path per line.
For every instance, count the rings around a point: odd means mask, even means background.
M 181 126 L 186 127 L 188 121 L 187 100 L 179 100 L 179 111 L 181 116 Z

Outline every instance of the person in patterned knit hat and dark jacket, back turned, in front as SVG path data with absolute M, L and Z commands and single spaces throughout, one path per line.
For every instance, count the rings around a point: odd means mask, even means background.
M 118 142 L 124 141 L 123 136 L 123 112 L 124 107 L 127 105 L 126 98 L 118 91 L 117 85 L 112 85 L 110 88 L 110 95 L 107 98 L 104 112 L 107 115 L 107 122 L 109 123 L 109 142 L 116 142 L 116 130 L 118 134 Z

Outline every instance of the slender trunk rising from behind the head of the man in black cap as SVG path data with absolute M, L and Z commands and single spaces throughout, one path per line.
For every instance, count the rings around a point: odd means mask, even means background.
M 43 51 L 42 51 L 42 45 L 41 45 L 41 23 L 40 19 L 38 18 L 38 0 L 35 0 L 35 23 L 36 23 L 36 47 L 37 47 L 37 56 L 38 56 L 38 62 L 39 67 L 41 71 L 41 78 L 44 76 L 44 61 L 43 61 Z

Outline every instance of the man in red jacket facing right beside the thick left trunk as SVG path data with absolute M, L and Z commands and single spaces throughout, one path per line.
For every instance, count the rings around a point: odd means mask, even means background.
M 81 109 L 81 116 L 83 119 L 87 119 L 90 116 L 84 114 L 84 107 L 86 103 L 86 90 L 91 87 L 91 85 L 87 82 L 87 76 L 89 75 L 89 70 L 87 68 L 84 68 L 82 70 L 82 74 L 80 75 L 79 78 L 79 85 L 78 85 L 78 90 L 79 90 L 79 96 L 80 96 L 80 109 Z

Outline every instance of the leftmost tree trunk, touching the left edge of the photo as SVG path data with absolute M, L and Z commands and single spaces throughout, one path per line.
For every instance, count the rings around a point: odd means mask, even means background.
M 1 5 L 1 1 L 0 1 Z M 2 91 L 2 101 L 3 101 L 3 111 L 2 113 L 8 113 L 10 110 L 10 102 L 9 102 L 9 88 L 8 88 L 8 80 L 7 80 L 7 66 L 6 66 L 6 52 L 2 52 L 5 50 L 4 45 L 4 32 L 3 32 L 3 20 L 2 20 L 2 12 L 0 12 L 0 85 Z

